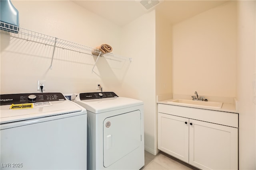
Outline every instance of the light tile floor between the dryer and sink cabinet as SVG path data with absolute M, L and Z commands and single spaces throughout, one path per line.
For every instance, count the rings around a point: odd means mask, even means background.
M 140 170 L 198 170 L 164 152 L 157 155 L 145 151 L 145 165 Z

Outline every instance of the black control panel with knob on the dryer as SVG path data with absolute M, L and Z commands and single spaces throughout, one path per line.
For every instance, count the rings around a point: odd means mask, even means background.
M 117 98 L 114 92 L 90 92 L 80 93 L 80 100 L 102 99 L 102 98 Z

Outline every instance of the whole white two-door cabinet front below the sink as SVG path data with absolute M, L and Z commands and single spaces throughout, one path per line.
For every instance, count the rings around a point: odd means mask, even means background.
M 200 169 L 238 169 L 238 113 L 158 104 L 158 149 Z

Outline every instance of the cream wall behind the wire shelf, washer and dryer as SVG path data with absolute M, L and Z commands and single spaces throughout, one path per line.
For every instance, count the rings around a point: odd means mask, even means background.
M 121 28 L 71 1 L 12 3 L 19 11 L 20 27 L 89 47 L 108 43 L 113 53 L 120 54 Z M 38 92 L 37 80 L 46 80 L 46 92 L 96 91 L 97 82 L 105 91 L 115 91 L 111 85 L 120 82 L 129 66 L 101 57 L 96 73 L 91 73 L 96 57 L 56 49 L 49 69 L 52 50 L 1 34 L 1 94 Z

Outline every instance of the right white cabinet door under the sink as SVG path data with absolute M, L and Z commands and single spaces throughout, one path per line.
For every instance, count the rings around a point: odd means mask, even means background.
M 189 163 L 200 169 L 238 169 L 238 128 L 190 119 Z

